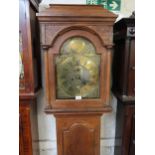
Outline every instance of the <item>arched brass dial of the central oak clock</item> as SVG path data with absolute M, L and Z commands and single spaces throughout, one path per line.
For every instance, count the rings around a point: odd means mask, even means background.
M 88 40 L 68 39 L 56 57 L 57 98 L 99 97 L 100 56 Z

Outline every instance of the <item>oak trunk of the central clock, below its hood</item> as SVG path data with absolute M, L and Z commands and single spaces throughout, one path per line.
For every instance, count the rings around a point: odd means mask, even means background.
M 99 155 L 100 115 L 57 114 L 58 155 Z

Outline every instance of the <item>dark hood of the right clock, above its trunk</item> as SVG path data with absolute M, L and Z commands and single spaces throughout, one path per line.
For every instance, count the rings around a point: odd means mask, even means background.
M 135 97 L 135 19 L 114 25 L 113 92 L 123 101 Z

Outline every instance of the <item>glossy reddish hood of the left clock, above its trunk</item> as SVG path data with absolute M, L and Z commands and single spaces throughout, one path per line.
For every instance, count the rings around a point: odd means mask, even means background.
M 41 87 L 37 10 L 31 0 L 19 0 L 19 6 L 19 90 L 32 96 Z

